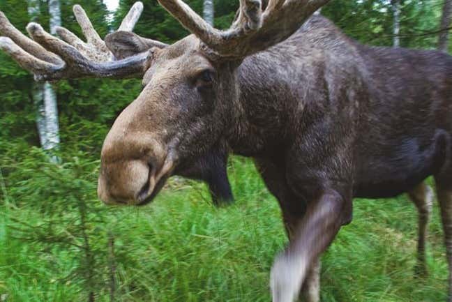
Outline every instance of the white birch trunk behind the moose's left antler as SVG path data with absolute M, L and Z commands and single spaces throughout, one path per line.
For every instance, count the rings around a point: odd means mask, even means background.
M 61 26 L 61 10 L 59 0 L 49 0 L 50 14 L 50 33 L 56 33 L 56 27 Z M 57 95 L 49 82 L 44 84 L 44 110 L 45 110 L 45 129 L 47 134 L 47 143 L 43 145 L 45 150 L 52 150 L 58 147 L 59 123 Z M 56 160 L 57 158 L 54 158 Z

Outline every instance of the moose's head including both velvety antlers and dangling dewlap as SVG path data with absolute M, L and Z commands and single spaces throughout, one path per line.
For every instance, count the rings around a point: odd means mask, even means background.
M 62 27 L 61 39 L 30 23 L 24 36 L 0 12 L 0 47 L 36 80 L 142 77 L 143 89 L 117 117 L 103 144 L 98 195 L 107 204 L 151 201 L 174 174 L 209 183 L 232 199 L 225 172 L 229 142 L 241 131 L 238 72 L 247 56 L 280 43 L 328 0 L 241 0 L 232 26 L 214 29 L 180 0 L 160 4 L 193 34 L 166 45 L 132 33 L 137 2 L 102 40 L 74 7 L 86 43 Z M 253 77 L 253 75 L 249 75 Z

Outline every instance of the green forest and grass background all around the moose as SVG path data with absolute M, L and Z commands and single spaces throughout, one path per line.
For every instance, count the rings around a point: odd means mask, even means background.
M 333 0 L 322 9 L 361 43 L 448 50 L 451 0 Z M 23 30 L 61 23 L 80 37 L 81 4 L 105 36 L 132 0 L 0 0 Z M 108 7 L 107 7 L 108 4 Z M 238 0 L 190 0 L 218 28 Z M 110 8 L 110 10 L 109 10 Z M 172 43 L 188 33 L 156 0 L 135 32 Z M 216 209 L 202 183 L 176 179 L 144 208 L 104 206 L 100 148 L 140 80 L 36 84 L 0 52 L 0 302 L 270 301 L 269 270 L 287 239 L 253 163 L 234 156 L 235 204 Z M 356 200 L 354 221 L 324 256 L 322 301 L 442 301 L 447 269 L 437 205 L 426 278 L 414 278 L 417 213 L 405 196 Z

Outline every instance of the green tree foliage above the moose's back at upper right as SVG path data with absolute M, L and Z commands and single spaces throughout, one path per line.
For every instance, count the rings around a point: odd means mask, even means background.
M 442 0 L 401 1 L 400 43 L 402 47 L 437 47 L 439 18 Z M 347 35 L 361 43 L 391 46 L 393 38 L 393 15 L 391 1 L 331 1 L 322 9 Z

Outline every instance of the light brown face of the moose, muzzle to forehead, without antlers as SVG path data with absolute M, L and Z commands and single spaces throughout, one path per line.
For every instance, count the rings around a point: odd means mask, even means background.
M 208 150 L 223 127 L 218 70 L 199 51 L 197 38 L 153 49 L 150 56 L 142 93 L 103 144 L 98 195 L 106 204 L 146 204 L 176 165 Z

